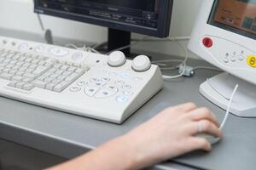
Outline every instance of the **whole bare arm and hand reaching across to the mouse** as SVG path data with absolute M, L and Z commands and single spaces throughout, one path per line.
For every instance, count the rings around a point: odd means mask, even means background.
M 51 170 L 130 170 L 149 167 L 192 150 L 211 150 L 206 139 L 195 137 L 198 122 L 202 131 L 221 137 L 218 120 L 206 108 L 177 105 L 96 150 L 67 161 Z

